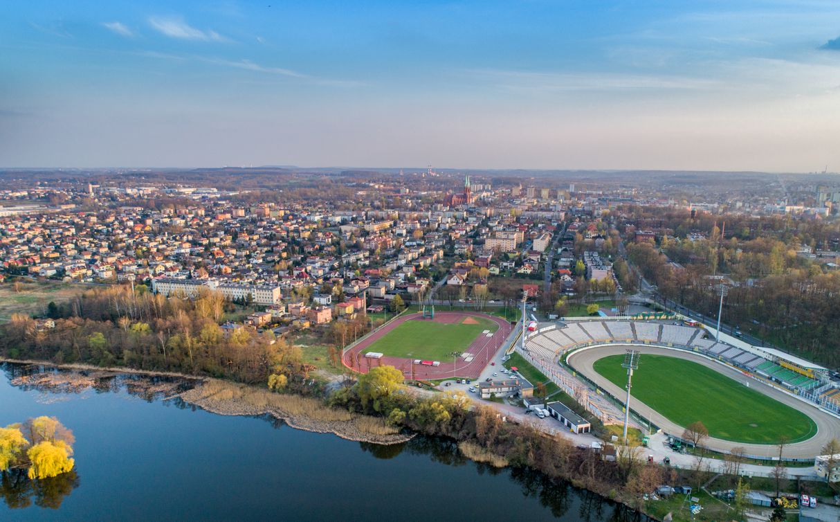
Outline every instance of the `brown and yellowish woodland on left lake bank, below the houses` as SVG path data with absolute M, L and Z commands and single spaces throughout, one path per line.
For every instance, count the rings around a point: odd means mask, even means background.
M 283 351 L 271 332 L 223 330 L 218 293 L 165 298 L 112 286 L 51 306 L 55 325 L 13 314 L 2 327 L 0 353 L 14 359 L 129 366 L 143 370 L 265 382 Z

